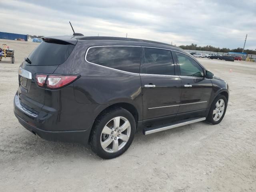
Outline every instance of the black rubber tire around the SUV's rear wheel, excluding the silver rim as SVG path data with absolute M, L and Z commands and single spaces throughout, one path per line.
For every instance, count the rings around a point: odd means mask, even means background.
M 115 117 L 124 117 L 130 123 L 130 137 L 126 144 L 117 152 L 106 152 L 104 148 L 102 148 L 102 130 Z M 92 128 L 92 133 L 90 136 L 90 146 L 92 151 L 96 153 L 98 156 L 104 159 L 112 159 L 122 155 L 132 144 L 136 132 L 136 122 L 134 120 L 134 116 L 132 114 L 121 107 L 114 107 L 110 110 L 106 110 L 95 120 L 94 126 Z M 108 135 L 109 136 L 109 135 Z M 119 140 L 118 140 L 119 141 Z M 114 143 L 112 143 L 114 144 Z M 111 144 L 110 144 L 111 145 Z

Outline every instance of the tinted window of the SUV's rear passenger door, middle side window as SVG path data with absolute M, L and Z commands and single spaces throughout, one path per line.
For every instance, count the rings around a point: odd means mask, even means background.
M 142 71 L 144 74 L 174 75 L 174 62 L 169 50 L 144 48 Z

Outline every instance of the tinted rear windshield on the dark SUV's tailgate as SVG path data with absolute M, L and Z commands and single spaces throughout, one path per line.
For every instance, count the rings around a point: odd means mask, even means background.
M 41 42 L 28 56 L 29 65 L 60 65 L 66 61 L 74 45 L 65 42 Z

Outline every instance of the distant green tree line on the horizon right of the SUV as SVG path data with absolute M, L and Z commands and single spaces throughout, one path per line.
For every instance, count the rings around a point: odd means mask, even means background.
M 236 49 L 229 49 L 229 48 L 219 48 L 219 47 L 214 47 L 211 45 L 206 45 L 206 46 L 197 46 L 197 44 L 191 44 L 191 45 L 181 45 L 179 46 L 182 49 L 187 49 L 187 50 L 199 50 L 199 51 L 212 51 L 212 52 L 242 52 L 243 48 L 236 48 Z M 250 49 L 245 49 L 245 53 L 247 54 L 256 54 L 256 49 L 255 50 L 250 50 Z

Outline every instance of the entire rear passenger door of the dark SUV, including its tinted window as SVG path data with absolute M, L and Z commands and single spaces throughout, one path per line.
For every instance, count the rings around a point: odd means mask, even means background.
M 172 52 L 144 48 L 140 78 L 144 120 L 175 117 L 179 110 L 181 80 L 175 76 Z

